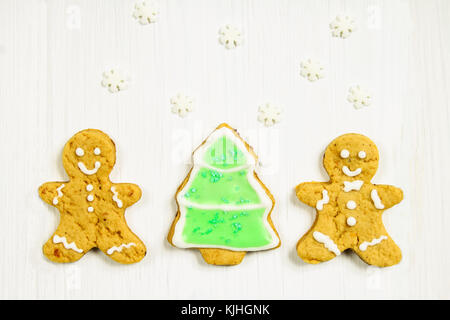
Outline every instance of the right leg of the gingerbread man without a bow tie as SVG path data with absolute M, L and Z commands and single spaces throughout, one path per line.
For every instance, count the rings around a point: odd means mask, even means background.
M 110 223 L 99 229 L 97 245 L 111 259 L 125 264 L 141 261 L 146 253 L 144 243 L 125 224 Z

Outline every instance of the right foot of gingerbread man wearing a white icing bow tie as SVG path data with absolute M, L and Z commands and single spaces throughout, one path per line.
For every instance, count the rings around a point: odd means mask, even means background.
M 402 259 L 400 248 L 389 236 L 362 241 L 353 250 L 364 262 L 378 267 L 393 266 Z

